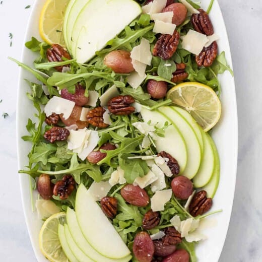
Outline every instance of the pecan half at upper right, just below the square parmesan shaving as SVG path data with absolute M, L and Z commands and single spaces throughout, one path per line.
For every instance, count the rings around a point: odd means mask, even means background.
M 201 53 L 195 56 L 195 61 L 199 67 L 210 67 L 218 54 L 218 44 L 214 41 L 210 46 L 204 47 Z

